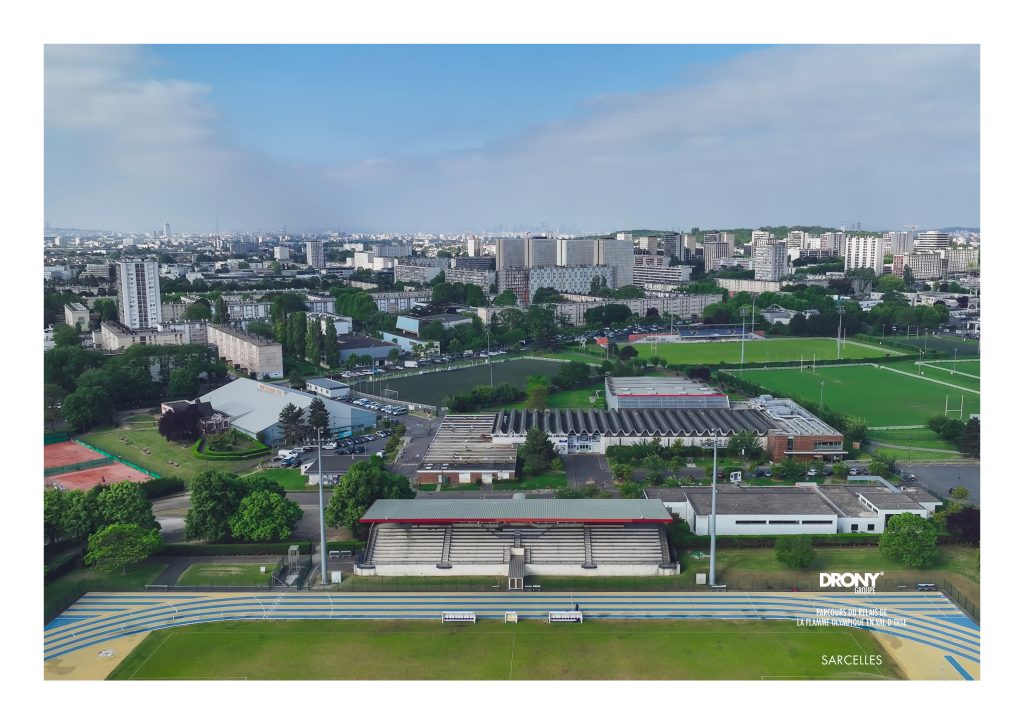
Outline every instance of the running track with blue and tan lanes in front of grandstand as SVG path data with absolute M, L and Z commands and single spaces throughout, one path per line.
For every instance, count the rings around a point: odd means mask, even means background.
M 579 604 L 586 617 L 782 620 L 852 626 L 924 644 L 978 678 L 979 627 L 941 593 L 90 593 L 44 631 L 44 659 L 140 632 L 223 621 L 421 619 L 445 610 L 547 619 Z M 881 609 L 881 610 L 879 610 Z M 801 623 L 802 622 L 802 623 Z

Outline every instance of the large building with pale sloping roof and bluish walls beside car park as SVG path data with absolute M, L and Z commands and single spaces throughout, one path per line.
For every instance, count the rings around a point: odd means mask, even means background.
M 274 446 L 284 442 L 281 411 L 294 404 L 306 411 L 314 399 L 322 399 L 328 412 L 330 433 L 334 436 L 361 433 L 377 425 L 377 416 L 369 410 L 335 399 L 324 399 L 310 392 L 284 385 L 271 385 L 246 378 L 228 382 L 200 397 L 230 420 L 231 427 Z

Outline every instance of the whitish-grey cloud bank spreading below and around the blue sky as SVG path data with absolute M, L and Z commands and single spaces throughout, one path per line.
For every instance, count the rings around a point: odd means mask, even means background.
M 767 48 L 676 87 L 593 98 L 569 118 L 470 152 L 333 168 L 285 168 L 237 147 L 218 129 L 210 89 L 147 71 L 138 50 L 47 50 L 52 222 L 597 229 L 978 220 L 973 46 Z M 83 165 L 92 184 L 69 178 Z

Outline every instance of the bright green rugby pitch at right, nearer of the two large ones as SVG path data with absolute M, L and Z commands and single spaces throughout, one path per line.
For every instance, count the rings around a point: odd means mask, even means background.
M 981 395 L 976 392 L 947 387 L 928 375 L 904 375 L 871 365 L 819 367 L 815 372 L 785 369 L 734 374 L 782 397 L 811 402 L 821 398 L 829 410 L 863 418 L 869 426 L 924 425 L 929 418 L 943 414 L 946 395 L 949 404 L 956 408 L 964 396 L 965 420 L 981 409 Z

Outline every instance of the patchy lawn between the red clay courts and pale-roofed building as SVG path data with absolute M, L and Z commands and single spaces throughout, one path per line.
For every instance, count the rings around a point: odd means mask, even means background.
M 125 442 L 122 438 L 129 442 Z M 162 477 L 171 475 L 187 479 L 207 468 L 242 474 L 255 470 L 260 462 L 258 459 L 224 462 L 197 460 L 193 456 L 191 442 L 168 442 L 156 428 L 97 428 L 79 435 L 79 439 L 152 470 Z M 143 449 L 148 450 L 150 454 L 143 453 Z M 272 453 L 268 454 L 267 458 Z M 171 465 L 170 461 L 174 461 L 177 465 Z

